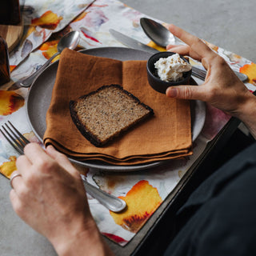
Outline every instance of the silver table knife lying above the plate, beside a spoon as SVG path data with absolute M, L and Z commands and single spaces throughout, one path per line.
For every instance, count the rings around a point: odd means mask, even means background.
M 143 44 L 142 42 L 138 42 L 134 38 L 130 38 L 126 36 L 125 34 L 122 34 L 121 32 L 118 32 L 117 30 L 110 29 L 110 34 L 117 39 L 119 42 L 122 42 L 125 46 L 131 47 L 136 50 L 144 50 L 146 52 L 156 54 L 159 52 L 159 50 L 155 50 L 154 48 L 147 46 Z M 245 82 L 247 80 L 246 74 L 239 73 L 237 71 L 234 71 L 234 73 L 240 78 L 242 82 Z M 198 69 L 195 66 L 192 66 L 192 75 L 194 75 L 196 78 L 200 78 L 203 81 L 206 78 L 206 70 Z

